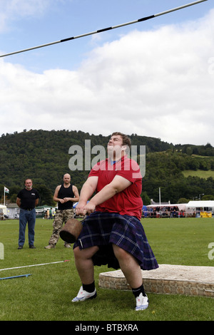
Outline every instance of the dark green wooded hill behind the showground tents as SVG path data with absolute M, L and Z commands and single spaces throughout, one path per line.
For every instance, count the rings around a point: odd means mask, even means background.
M 109 134 L 111 135 L 111 134 Z M 180 198 L 192 200 L 198 195 L 214 197 L 213 177 L 184 177 L 184 170 L 213 170 L 214 148 L 207 145 L 173 145 L 159 138 L 130 135 L 132 145 L 138 150 L 146 145 L 146 175 L 143 177 L 142 198 L 147 205 L 150 199 L 171 203 Z M 24 187 L 26 177 L 31 177 L 34 187 L 41 193 L 41 204 L 53 205 L 51 198 L 64 173 L 71 174 L 71 181 L 81 190 L 88 172 L 69 170 L 69 148 L 78 145 L 85 150 L 85 140 L 91 140 L 91 148 L 106 148 L 109 136 L 90 135 L 81 131 L 30 130 L 22 133 L 1 135 L 0 138 L 0 196 L 4 186 L 9 188 L 8 199 L 14 201 L 17 192 Z M 139 151 L 138 151 L 139 154 Z M 91 155 L 91 159 L 93 155 Z M 84 167 L 84 161 L 83 161 Z M 49 202 L 49 204 L 47 204 Z

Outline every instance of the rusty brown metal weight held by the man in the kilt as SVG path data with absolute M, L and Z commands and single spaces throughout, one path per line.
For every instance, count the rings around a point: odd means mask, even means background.
M 74 243 L 83 228 L 83 220 L 69 219 L 61 229 L 59 236 L 67 243 Z

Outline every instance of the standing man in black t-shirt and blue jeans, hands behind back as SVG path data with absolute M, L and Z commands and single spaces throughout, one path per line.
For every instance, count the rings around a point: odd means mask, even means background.
M 33 188 L 31 179 L 24 181 L 24 189 L 21 190 L 16 198 L 16 204 L 20 208 L 19 212 L 19 247 L 22 249 L 25 242 L 25 230 L 28 223 L 29 228 L 29 248 L 34 247 L 35 223 L 36 223 L 36 210 L 35 207 L 39 203 L 39 192 Z

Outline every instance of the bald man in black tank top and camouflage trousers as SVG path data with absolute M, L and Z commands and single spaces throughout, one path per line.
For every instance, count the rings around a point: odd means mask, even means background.
M 56 210 L 54 229 L 49 239 L 49 245 L 45 249 L 55 248 L 63 222 L 66 223 L 68 219 L 73 218 L 73 202 L 78 202 L 79 199 L 78 189 L 71 185 L 71 175 L 68 173 L 63 176 L 63 183 L 56 187 L 53 199 L 58 202 L 58 210 Z M 64 243 L 64 246 L 71 247 L 67 242 Z

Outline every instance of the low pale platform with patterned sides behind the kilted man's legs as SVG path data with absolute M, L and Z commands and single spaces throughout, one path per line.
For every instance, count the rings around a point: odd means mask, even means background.
M 142 271 L 142 278 L 148 293 L 214 298 L 214 267 L 161 264 L 158 269 Z M 121 270 L 99 274 L 99 287 L 124 291 L 131 289 Z

